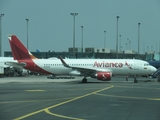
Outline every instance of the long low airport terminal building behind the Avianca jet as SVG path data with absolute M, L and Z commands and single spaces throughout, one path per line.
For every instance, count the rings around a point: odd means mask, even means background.
M 37 58 L 55 58 L 55 57 L 63 57 L 63 58 L 86 58 L 86 59 L 116 59 L 117 53 L 114 49 L 108 48 L 85 48 L 84 52 L 81 48 L 68 48 L 68 52 L 31 52 Z M 12 57 L 11 51 L 4 52 L 5 57 Z M 145 53 L 145 54 L 138 54 L 133 50 L 124 50 L 118 51 L 118 58 L 119 59 L 141 59 L 141 60 L 154 60 L 153 53 Z

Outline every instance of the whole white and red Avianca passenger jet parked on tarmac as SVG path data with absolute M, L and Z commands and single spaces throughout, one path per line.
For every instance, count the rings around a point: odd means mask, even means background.
M 136 59 L 37 59 L 15 35 L 8 39 L 14 59 L 20 66 L 34 72 L 84 76 L 82 82 L 87 82 L 86 77 L 109 81 L 113 75 L 137 76 L 156 72 L 148 62 Z M 136 77 L 134 82 L 137 82 Z

